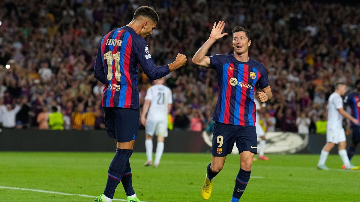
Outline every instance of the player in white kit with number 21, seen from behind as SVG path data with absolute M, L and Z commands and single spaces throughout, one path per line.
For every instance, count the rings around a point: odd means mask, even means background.
M 164 151 L 164 140 L 167 137 L 168 113 L 171 110 L 172 93 L 170 88 L 164 86 L 165 78 L 154 81 L 145 96 L 145 104 L 141 113 L 141 124 L 145 126 L 146 156 L 145 166 L 152 165 L 153 161 L 153 136 L 157 136 L 157 146 L 154 166 L 158 167 Z M 149 112 L 148 112 L 149 111 Z M 148 114 L 146 116 L 146 114 Z

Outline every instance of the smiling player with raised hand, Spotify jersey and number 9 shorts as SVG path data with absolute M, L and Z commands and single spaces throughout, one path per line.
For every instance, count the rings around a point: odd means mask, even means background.
M 224 21 L 214 23 L 209 39 L 192 60 L 199 66 L 215 69 L 219 84 L 219 98 L 213 115 L 215 127 L 212 136 L 211 163 L 207 166 L 201 194 L 204 199 L 210 198 L 214 177 L 221 171 L 226 155 L 231 153 L 236 142 L 241 165 L 235 179 L 231 201 L 237 202 L 250 179 L 252 158 L 257 153 L 254 102 L 256 86 L 263 91 L 257 93 L 261 102 L 270 101 L 273 94 L 265 66 L 248 56 L 251 38 L 246 29 L 234 27 L 232 31 L 234 54 L 205 56 L 216 40 L 228 35 L 221 34 L 224 26 Z

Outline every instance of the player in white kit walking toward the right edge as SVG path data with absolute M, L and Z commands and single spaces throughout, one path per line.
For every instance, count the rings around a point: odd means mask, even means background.
M 359 166 L 353 166 L 350 164 L 349 158 L 346 152 L 346 137 L 345 130 L 342 127 L 343 117 L 350 119 L 354 124 L 358 121 L 343 109 L 342 97 L 346 92 L 346 84 L 338 82 L 335 84 L 335 92 L 333 92 L 328 101 L 328 123 L 326 126 L 326 144 L 321 150 L 320 159 L 318 163 L 318 169 L 327 170 L 325 161 L 329 155 L 329 152 L 338 144 L 339 156 L 345 165 L 347 170 L 357 170 Z

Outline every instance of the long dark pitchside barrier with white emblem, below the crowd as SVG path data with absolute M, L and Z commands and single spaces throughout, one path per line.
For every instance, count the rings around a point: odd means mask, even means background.
M 211 133 L 170 131 L 165 152 L 210 153 Z M 268 132 L 265 153 L 320 153 L 325 135 Z M 350 136 L 347 143 L 350 144 Z M 153 138 L 154 151 L 156 137 Z M 105 130 L 1 130 L 0 151 L 114 151 L 115 143 Z M 145 131 L 139 130 L 134 152 L 145 152 Z M 331 153 L 337 153 L 335 147 Z M 357 147 L 356 153 L 360 153 Z

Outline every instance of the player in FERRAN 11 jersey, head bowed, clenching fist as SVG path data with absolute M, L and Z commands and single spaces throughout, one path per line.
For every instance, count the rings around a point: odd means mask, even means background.
M 116 154 L 109 166 L 104 193 L 98 202 L 111 202 L 117 185 L 122 182 L 127 201 L 139 202 L 131 182 L 129 158 L 139 130 L 138 64 L 151 79 L 162 78 L 186 63 L 186 56 L 165 66 L 156 66 L 144 40 L 152 34 L 159 16 L 152 8 L 141 6 L 127 26 L 105 35 L 96 55 L 94 77 L 105 84 L 102 106 L 108 136 L 116 142 Z

